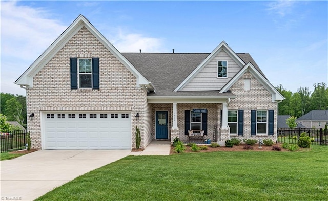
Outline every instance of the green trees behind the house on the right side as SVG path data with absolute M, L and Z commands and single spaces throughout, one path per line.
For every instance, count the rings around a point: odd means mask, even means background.
M 299 87 L 293 93 L 281 84 L 277 86 L 276 89 L 285 97 L 285 100 L 278 103 L 278 115 L 301 117 L 312 110 L 328 110 L 327 84 L 315 83 L 313 87 L 312 93 L 308 87 Z

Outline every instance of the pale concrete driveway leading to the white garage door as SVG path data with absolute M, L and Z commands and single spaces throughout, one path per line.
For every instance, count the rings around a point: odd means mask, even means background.
M 1 161 L 1 200 L 34 200 L 131 150 L 42 150 Z

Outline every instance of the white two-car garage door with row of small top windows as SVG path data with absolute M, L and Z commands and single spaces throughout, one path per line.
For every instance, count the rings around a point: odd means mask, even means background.
M 46 149 L 131 149 L 128 112 L 45 112 Z

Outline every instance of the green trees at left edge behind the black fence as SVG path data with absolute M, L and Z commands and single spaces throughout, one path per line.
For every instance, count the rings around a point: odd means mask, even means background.
M 0 113 L 7 121 L 17 121 L 26 128 L 26 96 L 1 92 L 0 101 Z

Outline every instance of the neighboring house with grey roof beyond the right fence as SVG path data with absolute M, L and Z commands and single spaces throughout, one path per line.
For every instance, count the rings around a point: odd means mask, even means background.
M 296 121 L 306 128 L 324 128 L 328 124 L 328 110 L 312 110 Z

